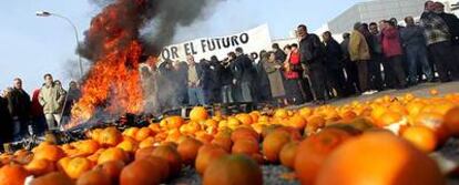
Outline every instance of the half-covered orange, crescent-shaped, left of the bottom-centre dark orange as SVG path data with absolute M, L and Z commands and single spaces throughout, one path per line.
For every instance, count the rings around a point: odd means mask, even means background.
M 182 168 L 182 157 L 175 147 L 170 145 L 157 146 L 153 150 L 152 155 L 167 161 L 170 169 L 169 174 L 171 176 L 180 174 Z

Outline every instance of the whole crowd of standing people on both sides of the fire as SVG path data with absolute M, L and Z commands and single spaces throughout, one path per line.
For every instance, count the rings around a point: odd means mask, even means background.
M 212 56 L 196 62 L 187 55 L 186 62 L 144 65 L 144 110 L 161 114 L 185 105 L 235 102 L 322 105 L 330 99 L 459 80 L 459 19 L 446 13 L 442 3 L 427 1 L 418 22 L 412 17 L 405 22 L 356 22 L 341 43 L 329 31 L 320 39 L 300 24 L 298 43 L 284 48 L 274 43 L 271 51 L 249 54 L 237 48 L 222 61 Z M 0 96 L 0 142 L 60 126 L 80 96 L 76 82 L 65 92 L 47 74 L 30 99 L 22 81 L 14 79 L 13 88 Z

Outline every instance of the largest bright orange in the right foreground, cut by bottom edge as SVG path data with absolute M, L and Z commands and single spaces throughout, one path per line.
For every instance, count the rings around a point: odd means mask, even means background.
M 387 132 L 369 132 L 344 143 L 323 164 L 315 182 L 317 185 L 445 183 L 434 160 Z

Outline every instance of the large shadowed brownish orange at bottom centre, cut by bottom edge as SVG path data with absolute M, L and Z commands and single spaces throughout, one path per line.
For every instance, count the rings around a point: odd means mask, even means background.
M 212 162 L 204 172 L 203 185 L 262 185 L 263 174 L 246 155 L 225 155 Z

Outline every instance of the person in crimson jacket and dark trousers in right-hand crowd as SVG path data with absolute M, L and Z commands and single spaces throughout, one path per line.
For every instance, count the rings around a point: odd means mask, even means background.
M 395 73 L 396 85 L 398 89 L 407 86 L 407 79 L 402 68 L 402 50 L 400 33 L 391 21 L 384 21 L 382 25 L 382 53 L 387 60 L 388 70 Z

